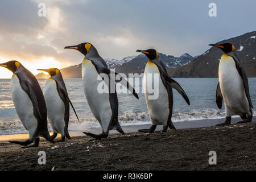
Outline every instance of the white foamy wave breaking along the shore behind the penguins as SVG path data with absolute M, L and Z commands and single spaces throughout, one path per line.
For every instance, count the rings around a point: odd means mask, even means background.
M 253 114 L 256 114 L 256 110 L 253 110 Z M 225 111 L 215 110 L 215 109 L 205 109 L 205 110 L 191 110 L 191 111 L 181 111 L 172 114 L 172 122 L 183 122 L 183 121 L 195 121 L 201 119 L 218 119 L 224 118 Z M 233 116 L 239 117 L 239 116 Z M 150 117 L 147 111 L 134 112 L 132 110 L 125 111 L 125 113 L 119 114 L 119 123 L 121 126 L 133 126 L 133 125 L 144 125 L 151 123 Z M 75 117 L 71 117 L 69 121 L 69 130 L 73 131 L 83 131 L 85 129 L 101 127 L 95 118 L 90 119 L 80 119 L 77 121 Z M 49 131 L 52 131 L 48 122 Z M 22 123 L 19 119 L 15 119 L 8 122 L 0 121 L 0 133 L 5 134 L 19 134 L 27 133 L 24 129 Z

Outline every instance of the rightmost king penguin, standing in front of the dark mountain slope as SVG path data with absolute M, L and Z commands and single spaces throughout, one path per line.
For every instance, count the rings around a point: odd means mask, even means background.
M 253 104 L 248 79 L 234 46 L 230 43 L 209 44 L 209 46 L 218 47 L 224 52 L 218 65 L 219 82 L 216 90 L 216 103 L 221 109 L 222 100 L 224 100 L 226 117 L 224 123 L 216 126 L 230 125 L 232 115 L 240 115 L 243 121 L 238 123 L 251 122 Z

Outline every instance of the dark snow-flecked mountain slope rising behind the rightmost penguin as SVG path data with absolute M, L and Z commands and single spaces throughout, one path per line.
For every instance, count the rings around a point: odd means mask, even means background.
M 214 42 L 209 42 L 214 43 Z M 247 77 L 256 76 L 256 31 L 222 40 L 217 44 L 232 43 L 236 48 Z M 172 77 L 218 77 L 218 64 L 223 52 L 216 47 L 210 47 L 191 63 L 176 69 L 170 69 Z

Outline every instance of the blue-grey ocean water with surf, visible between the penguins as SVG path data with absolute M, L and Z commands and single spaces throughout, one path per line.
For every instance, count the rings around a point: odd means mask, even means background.
M 134 79 L 134 88 L 143 90 L 141 78 Z M 189 97 L 191 105 L 188 106 L 183 97 L 174 90 L 173 122 L 192 121 L 207 118 L 224 118 L 225 110 L 218 109 L 215 101 L 216 86 L 218 78 L 174 78 L 183 87 Z M 46 79 L 39 79 L 40 86 L 44 86 Z M 75 113 L 71 108 L 69 130 L 83 131 L 92 127 L 100 127 L 93 117 L 86 102 L 82 88 L 81 78 L 64 79 L 69 97 L 75 106 L 80 122 L 77 121 Z M 131 81 L 131 80 L 130 80 Z M 250 95 L 253 105 L 256 107 L 256 78 L 249 78 Z M 117 90 L 121 85 L 117 85 Z M 0 135 L 27 133 L 16 114 L 13 100 L 11 98 L 10 79 L 0 79 Z M 122 126 L 148 124 L 146 101 L 144 94 L 140 92 L 139 100 L 130 93 L 119 93 L 119 122 Z M 254 115 L 256 110 L 254 109 Z M 51 127 L 48 123 L 49 130 Z

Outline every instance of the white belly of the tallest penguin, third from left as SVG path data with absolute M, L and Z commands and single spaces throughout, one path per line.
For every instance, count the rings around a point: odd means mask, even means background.
M 82 61 L 82 82 L 84 85 L 85 97 L 92 110 L 94 117 L 100 122 L 104 132 L 108 130 L 112 109 L 110 106 L 109 93 L 101 93 L 98 85 L 103 81 L 94 67 L 92 61 Z

